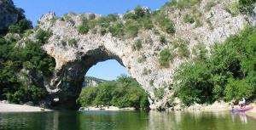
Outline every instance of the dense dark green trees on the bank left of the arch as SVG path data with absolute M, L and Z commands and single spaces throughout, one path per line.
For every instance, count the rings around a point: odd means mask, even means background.
M 55 60 L 41 48 L 50 36 L 49 31 L 38 30 L 38 42 L 26 40 L 22 42 L 24 47 L 17 46 L 17 37 L 32 33 L 29 30 L 32 22 L 26 20 L 24 14 L 21 18 L 15 25 L 9 26 L 9 36 L 12 37 L 0 37 L 0 99 L 14 103 L 36 103 L 44 99 L 46 91 L 28 73 L 40 75 L 42 72 L 44 76 L 50 76 L 55 68 Z

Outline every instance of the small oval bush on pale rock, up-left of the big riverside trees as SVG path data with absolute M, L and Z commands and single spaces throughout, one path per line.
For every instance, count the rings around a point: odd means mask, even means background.
M 169 48 L 165 48 L 160 52 L 160 66 L 168 68 L 170 61 L 174 59 L 174 54 L 171 53 Z

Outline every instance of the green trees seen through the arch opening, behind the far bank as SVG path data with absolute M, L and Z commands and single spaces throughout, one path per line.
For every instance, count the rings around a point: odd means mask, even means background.
M 135 107 L 148 110 L 148 94 L 135 79 L 119 76 L 116 81 L 102 82 L 97 87 L 83 88 L 78 103 L 82 106 Z

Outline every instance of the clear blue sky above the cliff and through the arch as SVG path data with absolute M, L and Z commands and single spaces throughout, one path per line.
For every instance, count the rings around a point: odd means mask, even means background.
M 55 12 L 63 16 L 69 12 L 96 13 L 96 14 L 124 14 L 137 5 L 155 10 L 170 0 L 14 0 L 16 7 L 25 10 L 26 18 L 32 20 L 33 25 L 43 14 Z M 130 75 L 129 72 L 116 60 L 100 62 L 90 68 L 86 76 L 95 76 L 106 80 L 114 80 L 121 74 Z

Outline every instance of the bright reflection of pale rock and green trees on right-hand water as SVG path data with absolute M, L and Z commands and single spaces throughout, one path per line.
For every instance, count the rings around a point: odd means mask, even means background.
M 232 114 L 230 111 L 150 111 L 148 120 L 148 127 L 151 130 L 239 130 L 241 126 L 243 127 L 242 129 L 248 130 L 255 127 L 253 118 L 248 118 L 245 113 Z

